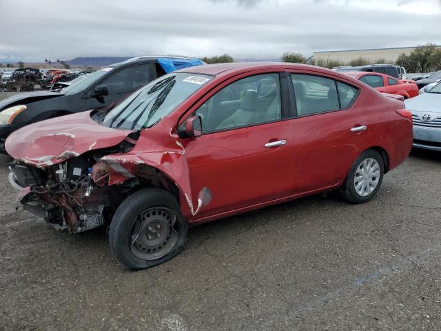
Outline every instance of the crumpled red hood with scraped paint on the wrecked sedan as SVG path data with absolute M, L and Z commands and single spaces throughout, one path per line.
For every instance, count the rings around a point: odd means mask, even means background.
M 25 126 L 6 139 L 6 151 L 14 159 L 43 168 L 89 150 L 115 146 L 132 132 L 101 126 L 90 118 L 90 112 Z

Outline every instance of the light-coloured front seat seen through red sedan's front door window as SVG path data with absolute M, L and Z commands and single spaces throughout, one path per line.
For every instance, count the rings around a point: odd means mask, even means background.
M 236 110 L 231 116 L 220 122 L 219 125 L 216 126 L 216 130 L 258 123 L 259 112 L 256 106 L 257 92 L 254 90 L 247 91 L 240 102 L 240 109 Z

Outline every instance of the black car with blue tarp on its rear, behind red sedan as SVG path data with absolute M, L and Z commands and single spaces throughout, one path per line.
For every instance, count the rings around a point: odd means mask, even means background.
M 0 101 L 0 152 L 5 152 L 6 137 L 29 123 L 107 107 L 167 70 L 201 64 L 183 57 L 135 57 L 98 70 L 60 92 L 21 93 L 4 99 Z

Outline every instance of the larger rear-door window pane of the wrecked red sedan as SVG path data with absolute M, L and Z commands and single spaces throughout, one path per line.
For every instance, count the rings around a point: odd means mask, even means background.
M 340 109 L 336 81 L 309 74 L 291 74 L 298 116 Z

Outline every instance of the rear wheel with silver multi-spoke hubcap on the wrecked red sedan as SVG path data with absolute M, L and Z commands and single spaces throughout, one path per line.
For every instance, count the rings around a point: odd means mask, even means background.
M 342 197 L 350 203 L 365 203 L 380 189 L 384 175 L 384 161 L 375 150 L 366 150 L 351 166 L 340 188 Z

